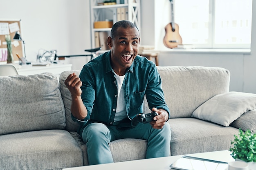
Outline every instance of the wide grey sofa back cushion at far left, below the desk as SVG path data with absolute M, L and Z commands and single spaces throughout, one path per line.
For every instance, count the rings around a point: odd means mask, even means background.
M 65 129 L 57 77 L 51 73 L 0 76 L 0 135 Z

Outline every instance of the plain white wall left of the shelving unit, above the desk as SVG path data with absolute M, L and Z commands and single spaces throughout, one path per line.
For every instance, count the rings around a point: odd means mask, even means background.
M 21 19 L 21 35 L 28 61 L 38 50 L 57 50 L 58 55 L 85 54 L 90 45 L 88 0 L 0 0 L 0 19 Z M 86 57 L 67 59 L 75 70 Z

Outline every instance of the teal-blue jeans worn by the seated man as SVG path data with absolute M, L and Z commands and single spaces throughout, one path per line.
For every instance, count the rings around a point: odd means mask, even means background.
M 91 123 L 83 130 L 82 138 L 87 145 L 89 165 L 112 163 L 109 143 L 117 139 L 147 140 L 146 158 L 167 157 L 171 152 L 171 128 L 167 122 L 162 129 L 153 129 L 149 123 L 139 123 L 132 129 L 121 131 L 115 124 Z

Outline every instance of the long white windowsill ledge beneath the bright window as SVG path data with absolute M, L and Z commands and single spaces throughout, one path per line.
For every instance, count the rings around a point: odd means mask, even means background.
M 250 54 L 251 49 L 199 49 L 199 48 L 192 48 L 192 49 L 166 49 L 160 50 L 160 52 L 199 52 L 199 53 L 240 53 L 240 54 Z

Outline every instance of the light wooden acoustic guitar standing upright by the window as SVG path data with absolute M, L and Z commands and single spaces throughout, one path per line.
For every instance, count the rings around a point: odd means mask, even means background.
M 182 38 L 179 33 L 179 26 L 174 22 L 173 0 L 171 2 L 171 22 L 164 27 L 164 46 L 167 48 L 175 48 L 178 44 L 182 44 Z

